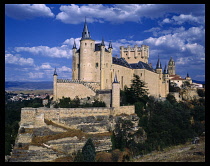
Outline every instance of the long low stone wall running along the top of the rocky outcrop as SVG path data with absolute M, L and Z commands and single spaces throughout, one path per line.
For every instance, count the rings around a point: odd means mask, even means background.
M 31 124 L 28 128 L 33 126 L 42 126 L 44 119 L 48 119 L 54 122 L 60 122 L 61 119 L 69 117 L 88 117 L 88 116 L 109 116 L 127 114 L 131 115 L 135 113 L 134 106 L 121 106 L 117 108 L 108 107 L 90 107 L 90 108 L 30 108 L 25 107 L 21 109 L 21 122 L 24 124 Z

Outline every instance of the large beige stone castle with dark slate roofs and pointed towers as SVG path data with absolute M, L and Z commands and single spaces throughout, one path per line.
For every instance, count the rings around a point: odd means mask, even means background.
M 152 65 L 148 64 L 149 46 L 121 46 L 120 58 L 113 57 L 112 50 L 112 43 L 110 42 L 106 48 L 104 39 L 101 43 L 95 43 L 85 21 L 80 47 L 77 49 L 74 41 L 72 48 L 72 80 L 58 79 L 55 70 L 53 100 L 58 101 L 62 97 L 86 98 L 98 95 L 108 107 L 113 107 L 110 93 L 115 92 L 112 89 L 114 77 L 116 76 L 119 88 L 123 90 L 125 86 L 130 87 L 134 74 L 146 83 L 149 95 L 159 99 L 167 96 L 169 80 L 178 78 L 172 58 L 163 70 L 158 57 L 156 68 L 153 69 Z M 112 96 L 115 95 L 112 94 Z

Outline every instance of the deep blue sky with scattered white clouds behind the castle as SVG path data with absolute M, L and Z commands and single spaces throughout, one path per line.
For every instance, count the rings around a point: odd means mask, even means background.
M 5 81 L 72 77 L 72 46 L 84 20 L 113 56 L 120 46 L 148 45 L 155 68 L 172 57 L 176 74 L 205 80 L 205 4 L 5 4 Z

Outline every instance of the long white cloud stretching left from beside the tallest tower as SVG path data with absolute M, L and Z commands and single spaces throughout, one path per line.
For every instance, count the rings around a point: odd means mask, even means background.
M 48 46 L 37 46 L 37 47 L 15 47 L 15 51 L 21 52 L 30 52 L 34 55 L 42 55 L 42 56 L 48 56 L 53 58 L 71 58 L 72 56 L 72 50 L 66 46 L 63 45 L 61 47 L 48 47 Z

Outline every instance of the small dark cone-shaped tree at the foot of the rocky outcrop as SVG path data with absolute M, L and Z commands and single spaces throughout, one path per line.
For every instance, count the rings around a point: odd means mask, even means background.
M 82 148 L 84 162 L 95 162 L 96 152 L 92 139 L 89 138 Z

